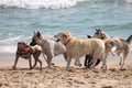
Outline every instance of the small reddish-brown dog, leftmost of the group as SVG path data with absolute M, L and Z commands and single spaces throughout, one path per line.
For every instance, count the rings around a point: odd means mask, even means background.
M 16 63 L 19 57 L 22 57 L 24 59 L 29 59 L 29 64 L 30 64 L 30 69 L 34 68 L 36 66 L 36 63 L 40 63 L 40 70 L 42 70 L 42 61 L 38 59 L 38 56 L 41 55 L 42 52 L 42 47 L 38 45 L 35 46 L 30 46 L 28 45 L 28 43 L 25 42 L 19 42 L 18 43 L 18 50 L 15 52 L 15 62 L 13 65 L 13 69 L 15 69 Z M 35 63 L 32 66 L 32 62 L 31 62 L 31 56 L 33 55 Z

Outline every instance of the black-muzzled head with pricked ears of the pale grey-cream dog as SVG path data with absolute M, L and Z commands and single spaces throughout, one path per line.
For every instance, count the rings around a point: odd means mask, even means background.
M 31 46 L 34 46 L 36 44 L 41 44 L 42 40 L 44 38 L 44 36 L 40 33 L 40 32 L 34 32 L 34 35 L 32 37 L 32 42 L 30 43 Z

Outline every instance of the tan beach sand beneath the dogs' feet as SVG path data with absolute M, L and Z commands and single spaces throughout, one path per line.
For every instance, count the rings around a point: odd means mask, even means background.
M 53 61 L 55 66 L 48 69 L 42 61 L 42 72 L 38 65 L 30 70 L 25 59 L 19 61 L 16 70 L 12 70 L 14 61 L 0 61 L 0 88 L 132 88 L 131 59 L 127 59 L 124 69 L 119 70 L 119 58 L 112 57 L 108 59 L 106 72 L 100 69 L 101 64 L 95 70 L 73 64 L 69 70 L 64 70 L 64 59 Z

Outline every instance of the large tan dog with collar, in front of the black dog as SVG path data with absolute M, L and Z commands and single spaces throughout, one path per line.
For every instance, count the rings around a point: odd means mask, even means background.
M 79 58 L 84 55 L 94 55 L 94 64 L 91 68 L 95 68 L 98 58 L 102 59 L 105 53 L 105 42 L 98 38 L 77 38 L 72 36 L 69 32 L 62 32 L 55 35 L 55 37 L 61 41 L 67 48 L 68 58 L 66 69 L 69 68 L 72 58 Z M 106 66 L 103 61 L 102 66 Z

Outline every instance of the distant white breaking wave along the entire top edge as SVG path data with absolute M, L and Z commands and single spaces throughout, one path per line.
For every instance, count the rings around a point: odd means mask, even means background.
M 132 3 L 132 0 L 0 0 L 2 8 L 24 8 L 24 9 L 62 9 L 70 8 L 79 2 L 113 2 Z

